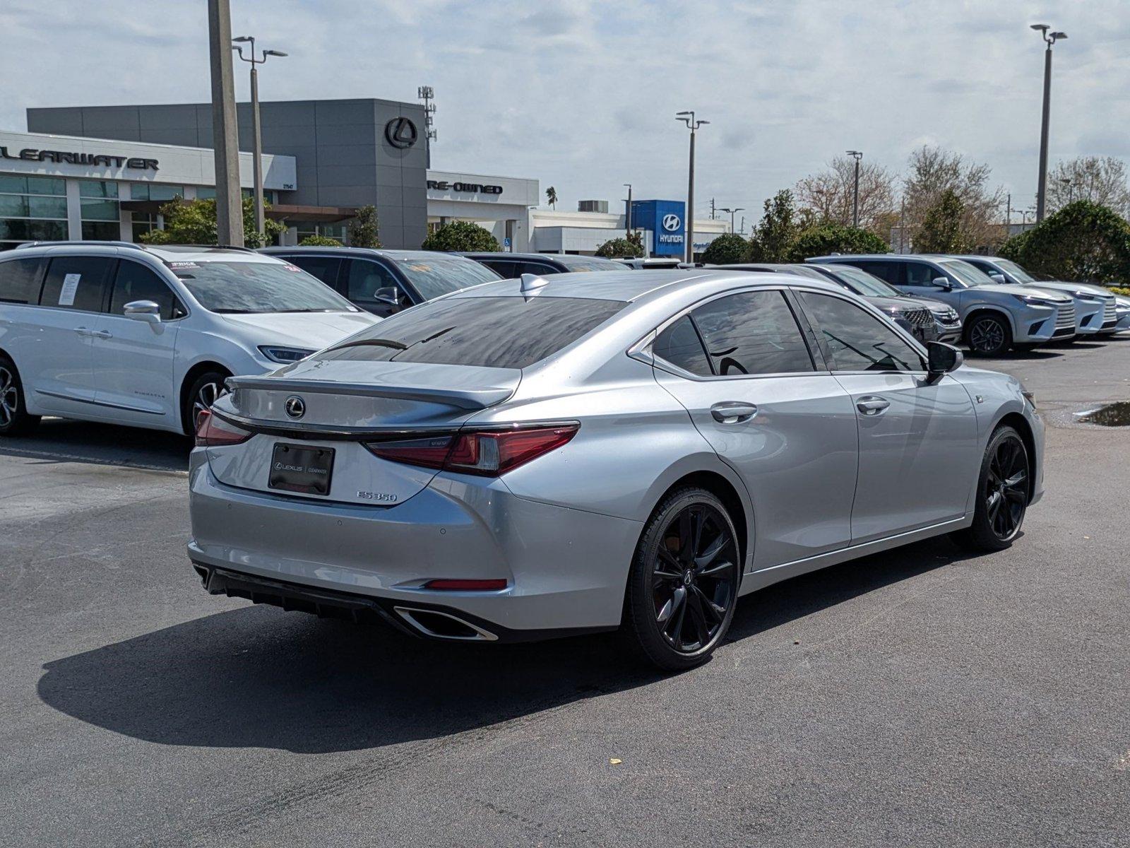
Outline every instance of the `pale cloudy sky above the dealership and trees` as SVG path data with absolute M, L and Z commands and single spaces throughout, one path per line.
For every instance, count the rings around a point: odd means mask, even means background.
M 989 163 L 1014 208 L 1035 192 L 1042 43 L 1055 47 L 1051 158 L 1130 158 L 1128 0 L 231 0 L 234 34 L 287 59 L 263 99 L 415 99 L 435 88 L 438 168 L 532 176 L 562 208 L 686 192 L 763 200 L 847 148 L 898 170 L 941 145 Z M 3 0 L 0 128 L 27 106 L 209 96 L 205 0 Z M 237 67 L 237 96 L 247 96 Z

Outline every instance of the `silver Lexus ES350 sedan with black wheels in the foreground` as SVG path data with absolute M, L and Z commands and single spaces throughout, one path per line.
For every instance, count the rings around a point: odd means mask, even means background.
M 205 588 L 434 639 L 620 629 L 687 668 L 740 595 L 1005 548 L 1043 493 L 1020 383 L 785 274 L 525 275 L 228 383 L 191 459 Z

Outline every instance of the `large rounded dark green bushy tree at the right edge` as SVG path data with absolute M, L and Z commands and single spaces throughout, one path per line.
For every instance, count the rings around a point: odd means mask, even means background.
M 1054 279 L 1124 284 L 1130 279 L 1130 224 L 1109 207 L 1076 200 L 1009 239 L 1000 254 Z

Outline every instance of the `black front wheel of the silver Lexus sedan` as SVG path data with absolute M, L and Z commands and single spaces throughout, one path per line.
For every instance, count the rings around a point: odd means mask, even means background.
M 1020 434 L 1010 426 L 998 427 L 981 459 L 973 523 L 953 534 L 954 540 L 977 552 L 1010 547 L 1028 508 L 1031 475 L 1032 462 Z

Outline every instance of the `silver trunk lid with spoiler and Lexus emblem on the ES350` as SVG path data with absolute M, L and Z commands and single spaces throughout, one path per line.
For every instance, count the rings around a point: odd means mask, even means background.
M 241 444 L 209 447 L 208 461 L 216 478 L 229 486 L 395 505 L 423 490 L 436 471 L 381 459 L 365 442 L 443 439 L 476 413 L 506 400 L 521 377 L 518 369 L 323 360 L 231 378 L 232 392 L 214 410 L 255 434 Z M 287 461 L 284 447 L 290 457 L 306 456 L 295 448 L 332 451 L 329 494 L 295 494 L 270 485 L 272 469 Z

